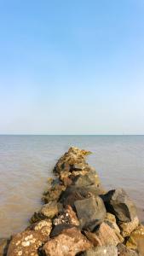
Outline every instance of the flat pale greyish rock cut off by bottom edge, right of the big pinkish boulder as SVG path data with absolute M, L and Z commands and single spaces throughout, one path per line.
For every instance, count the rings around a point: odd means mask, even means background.
M 84 256 L 118 256 L 118 248 L 115 246 L 93 247 L 83 253 Z

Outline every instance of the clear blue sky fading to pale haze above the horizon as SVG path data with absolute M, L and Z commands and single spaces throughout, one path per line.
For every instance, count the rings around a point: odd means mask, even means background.
M 0 0 L 0 133 L 144 134 L 143 0 Z

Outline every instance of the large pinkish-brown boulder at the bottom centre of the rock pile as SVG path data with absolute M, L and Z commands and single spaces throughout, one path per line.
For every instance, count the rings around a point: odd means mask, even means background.
M 59 236 L 46 242 L 43 252 L 46 256 L 75 256 L 91 247 L 91 243 L 81 234 L 78 228 L 63 230 Z

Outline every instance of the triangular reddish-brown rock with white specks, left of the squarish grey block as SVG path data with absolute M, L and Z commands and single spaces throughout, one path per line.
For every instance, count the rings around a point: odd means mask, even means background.
M 66 206 L 66 209 L 64 212 L 58 216 L 58 218 L 55 218 L 53 221 L 53 224 L 58 225 L 58 224 L 72 224 L 75 226 L 79 225 L 79 221 L 77 218 L 77 215 L 74 211 L 72 211 L 71 206 Z

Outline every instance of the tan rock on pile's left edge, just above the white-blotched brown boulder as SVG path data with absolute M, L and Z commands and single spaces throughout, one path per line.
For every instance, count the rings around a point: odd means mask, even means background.
M 43 205 L 39 212 L 34 212 L 31 223 L 35 223 L 38 220 L 44 218 L 54 218 L 58 214 L 60 209 L 60 204 L 57 201 L 50 201 L 48 204 Z

